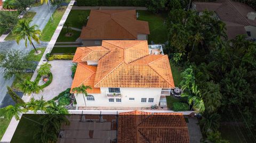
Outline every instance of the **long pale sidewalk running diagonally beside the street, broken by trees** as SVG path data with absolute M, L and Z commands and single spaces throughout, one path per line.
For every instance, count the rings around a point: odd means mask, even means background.
M 37 66 L 37 69 L 38 69 L 39 65 L 43 64 L 46 61 L 46 58 L 45 58 L 46 53 L 50 53 L 52 51 L 52 48 L 53 48 L 55 42 L 57 41 L 57 38 L 58 38 L 58 36 L 60 34 L 60 31 L 61 31 L 61 29 L 63 27 L 63 24 L 65 23 L 65 21 L 66 21 L 66 19 L 68 17 L 68 14 L 69 14 L 69 12 L 70 12 L 74 2 L 75 2 L 75 0 L 72 0 L 69 3 L 65 13 L 62 16 L 62 19 L 60 20 L 59 26 L 55 30 L 49 45 L 46 47 L 46 50 L 45 50 L 45 52 L 43 54 L 43 57 L 41 58 L 38 66 Z M 37 72 L 34 72 L 33 77 L 31 78 L 31 81 L 34 81 L 36 79 L 36 77 L 37 77 Z M 29 102 L 30 96 L 23 96 L 22 99 L 25 102 Z M 6 143 L 7 142 L 11 142 L 12 136 L 13 136 L 13 134 L 14 134 L 18 124 L 19 124 L 19 121 L 15 120 L 15 118 L 12 117 L 12 120 L 11 120 L 8 128 L 6 129 L 6 131 L 4 133 L 4 136 L 3 136 L 3 138 L 2 138 L 2 140 L 0 142 L 6 142 Z

